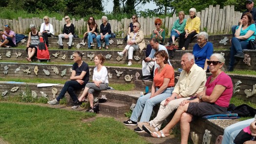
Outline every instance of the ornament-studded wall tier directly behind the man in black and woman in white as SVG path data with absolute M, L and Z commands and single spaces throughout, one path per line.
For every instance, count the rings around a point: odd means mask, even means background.
M 8 67 L 7 74 L 4 74 L 4 69 Z M 38 74 L 34 72 L 34 68 L 38 67 Z M 4 68 L 5 67 L 5 68 Z M 93 69 L 95 66 L 89 66 L 90 80 L 92 80 Z M 28 70 L 29 69 L 29 70 Z M 44 70 L 43 70 L 44 69 Z M 55 70 L 53 70 L 55 69 Z M 58 69 L 58 74 L 57 74 Z M 41 79 L 55 79 L 55 80 L 69 80 L 71 76 L 72 65 L 54 65 L 54 64 L 41 64 L 41 63 L 0 63 L 0 77 L 17 77 L 17 78 L 41 78 Z M 62 71 L 66 71 L 65 75 L 62 75 Z M 108 81 L 109 83 L 134 83 L 135 73 L 141 75 L 141 68 L 121 68 L 114 66 L 107 66 Z M 25 72 L 24 72 L 25 71 Z M 49 75 L 46 75 L 44 71 L 48 71 Z M 55 72 L 54 72 L 55 71 Z M 120 74 L 118 75 L 117 72 Z M 126 81 L 125 77 L 131 77 L 130 81 Z

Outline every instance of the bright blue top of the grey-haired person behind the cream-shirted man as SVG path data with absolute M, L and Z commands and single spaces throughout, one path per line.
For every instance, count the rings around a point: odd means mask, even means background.
M 204 68 L 205 60 L 210 60 L 213 54 L 213 43 L 207 42 L 202 48 L 196 43 L 193 46 L 193 55 L 195 64 Z

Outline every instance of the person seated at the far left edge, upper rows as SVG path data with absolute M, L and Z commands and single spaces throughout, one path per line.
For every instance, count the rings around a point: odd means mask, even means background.
M 4 31 L 0 31 L 0 47 L 15 47 L 15 32 L 11 30 L 10 25 L 4 25 L 3 29 Z

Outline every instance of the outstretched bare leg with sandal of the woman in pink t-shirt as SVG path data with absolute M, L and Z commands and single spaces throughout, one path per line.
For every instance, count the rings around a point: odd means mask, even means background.
M 183 113 L 185 113 L 188 110 L 188 106 L 189 103 L 186 103 L 185 105 L 180 105 L 179 108 L 177 109 L 177 111 L 175 112 L 173 118 L 171 119 L 171 122 L 168 123 L 163 129 L 162 132 L 164 133 L 165 136 L 169 136 L 170 135 L 170 130 L 171 128 L 180 122 L 180 118 L 182 116 Z M 157 132 L 158 135 L 161 136 L 160 132 Z M 156 134 L 151 133 L 152 137 L 157 138 Z

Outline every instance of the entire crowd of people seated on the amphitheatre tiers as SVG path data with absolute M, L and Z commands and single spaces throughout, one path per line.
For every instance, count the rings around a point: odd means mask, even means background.
M 252 1 L 252 0 L 247 0 Z M 139 97 L 131 117 L 124 121 L 126 125 L 137 125 L 136 132 L 147 132 L 154 138 L 163 138 L 170 135 L 170 130 L 180 122 L 181 144 L 187 144 L 190 132 L 190 123 L 196 118 L 213 114 L 225 114 L 233 95 L 233 83 L 231 78 L 224 72 L 225 58 L 221 54 L 213 54 L 213 44 L 208 41 L 207 32 L 200 31 L 200 18 L 196 16 L 196 9 L 189 10 L 190 18 L 185 19 L 183 11 L 179 12 L 179 19 L 173 24 L 171 37 L 167 45 L 175 44 L 179 39 L 179 49 L 188 50 L 192 38 L 197 35 L 197 43 L 193 46 L 192 53 L 185 53 L 181 57 L 182 71 L 178 82 L 174 85 L 174 69 L 171 65 L 167 48 L 163 45 L 165 41 L 165 30 L 161 28 L 161 19 L 156 19 L 155 29 L 152 31 L 149 44 L 147 45 L 146 58 L 142 61 L 142 80 L 153 79 L 151 92 Z M 74 24 L 70 18 L 65 16 L 63 34 L 59 35 L 60 49 L 63 49 L 63 38 L 69 39 L 68 49 L 71 49 L 74 37 Z M 128 41 L 122 52 L 117 52 L 123 57 L 128 52 L 128 66 L 132 65 L 133 52 L 142 52 L 146 48 L 143 31 L 140 30 L 140 23 L 137 16 L 132 16 L 132 22 L 128 26 Z M 37 53 L 39 37 L 43 36 L 45 43 L 49 46 L 48 37 L 54 35 L 53 26 L 49 23 L 49 17 L 43 17 L 44 23 L 40 31 L 35 25 L 30 25 L 31 32 L 27 41 L 27 61 L 31 62 Z M 235 27 L 234 37 L 231 40 L 230 63 L 228 71 L 234 70 L 235 58 L 243 58 L 243 49 L 247 49 L 251 39 L 256 37 L 256 26 L 253 15 L 250 12 L 243 13 L 239 25 Z M 4 25 L 4 31 L 0 31 L 0 47 L 15 47 L 15 33 L 9 25 Z M 93 39 L 96 38 L 97 46 L 102 49 L 102 42 L 106 42 L 106 49 L 109 46 L 111 37 L 111 26 L 107 17 L 102 17 L 100 31 L 93 17 L 87 21 L 87 31 L 83 39 L 88 41 L 88 49 L 94 46 Z M 107 90 L 108 76 L 107 68 L 103 65 L 105 57 L 96 55 L 94 58 L 95 68 L 93 70 L 92 82 L 89 82 L 89 67 L 82 60 L 83 54 L 79 51 L 73 53 L 72 74 L 70 81 L 65 82 L 59 96 L 48 101 L 49 104 L 59 104 L 68 92 L 74 106 L 81 105 L 87 97 L 90 107 L 93 108 L 93 93 L 95 91 Z M 206 72 L 212 75 L 206 78 Z M 84 88 L 83 94 L 78 98 L 75 90 Z M 153 106 L 160 104 L 157 116 L 150 120 Z M 72 107 L 73 108 L 73 107 Z M 77 108 L 77 107 L 74 107 Z M 175 111 L 171 122 L 162 130 L 164 120 Z M 222 144 L 234 143 L 235 137 L 241 129 L 248 127 L 250 134 L 256 136 L 255 119 L 235 123 L 224 131 Z M 238 139 L 238 138 L 237 138 Z M 250 141 L 250 140 L 249 140 Z M 244 141 L 245 142 L 245 141 Z M 245 143 L 245 144 L 250 144 Z M 255 144 L 255 143 L 252 143 Z

